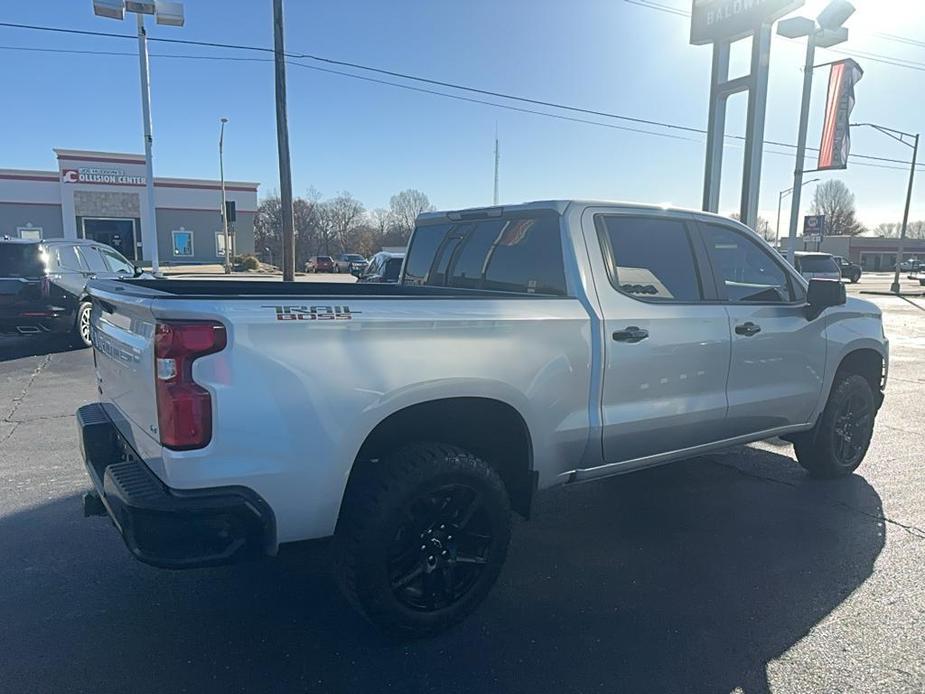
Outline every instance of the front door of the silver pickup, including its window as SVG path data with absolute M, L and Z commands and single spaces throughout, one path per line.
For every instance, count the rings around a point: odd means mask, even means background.
M 825 317 L 807 319 L 802 284 L 747 232 L 701 231 L 732 333 L 725 438 L 808 422 L 825 375 Z

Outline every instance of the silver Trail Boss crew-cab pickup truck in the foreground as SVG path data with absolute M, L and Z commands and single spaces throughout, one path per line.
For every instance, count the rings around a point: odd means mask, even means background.
M 874 305 L 741 224 L 580 201 L 431 213 L 398 285 L 91 285 L 95 490 L 150 564 L 333 536 L 349 600 L 436 632 L 534 492 L 780 436 L 851 473 L 883 400 Z

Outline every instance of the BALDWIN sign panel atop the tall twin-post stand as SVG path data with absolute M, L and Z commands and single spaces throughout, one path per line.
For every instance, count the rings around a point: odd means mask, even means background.
M 802 7 L 804 0 L 694 0 L 691 43 L 734 41 Z

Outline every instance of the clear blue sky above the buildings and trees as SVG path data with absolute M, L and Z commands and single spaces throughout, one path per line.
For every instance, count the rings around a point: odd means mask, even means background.
M 925 3 L 854 4 L 857 12 L 846 23 L 848 42 L 838 52 L 819 50 L 816 62 L 850 55 L 864 69 L 852 121 L 925 129 L 925 40 L 916 38 L 925 37 Z M 184 5 L 184 27 L 150 22 L 149 36 L 272 47 L 271 0 L 186 0 Z M 711 49 L 689 44 L 687 17 L 652 7 L 688 11 L 690 2 L 684 0 L 285 0 L 284 5 L 287 51 L 706 127 Z M 809 0 L 799 13 L 812 17 L 824 5 L 824 0 Z M 0 22 L 135 32 L 134 21 L 94 16 L 91 0 L 4 2 Z M 747 70 L 747 44 L 734 46 L 732 76 Z M 226 177 L 260 182 L 261 195 L 278 190 L 272 56 L 149 45 L 155 174 L 217 178 L 219 118 L 224 116 L 229 119 Z M 136 51 L 135 39 L 0 27 L 0 168 L 54 169 L 54 147 L 142 152 Z M 767 140 L 796 141 L 804 51 L 805 40 L 773 40 Z M 502 203 L 594 198 L 700 206 L 702 135 L 477 97 L 633 130 L 549 118 L 311 68 L 473 96 L 447 88 L 310 59 L 298 62 L 309 67 L 287 67 L 296 194 L 309 187 L 324 196 L 349 191 L 373 209 L 386 207 L 400 190 L 417 188 L 441 209 L 488 205 L 497 129 Z M 815 71 L 810 146 L 819 142 L 827 79 L 827 68 Z M 744 133 L 745 105 L 744 95 L 730 99 L 727 133 Z M 911 149 L 870 129 L 853 132 L 852 151 L 905 161 L 911 155 Z M 807 178 L 845 181 L 856 195 L 860 220 L 875 226 L 900 221 L 905 202 L 908 167 L 887 166 L 899 168 L 852 163 L 847 171 Z M 766 147 L 759 206 L 772 226 L 778 192 L 792 185 L 793 168 L 792 150 Z M 741 169 L 742 150 L 729 143 L 721 212 L 738 209 Z M 814 186 L 804 189 L 803 213 Z M 785 199 L 782 229 L 788 213 Z M 925 219 L 925 180 L 915 189 L 911 218 Z

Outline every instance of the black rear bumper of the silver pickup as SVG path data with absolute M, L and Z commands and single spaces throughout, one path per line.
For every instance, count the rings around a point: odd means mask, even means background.
M 231 564 L 273 551 L 275 517 L 253 490 L 168 487 L 97 403 L 77 410 L 77 427 L 96 494 L 137 559 L 186 569 Z

